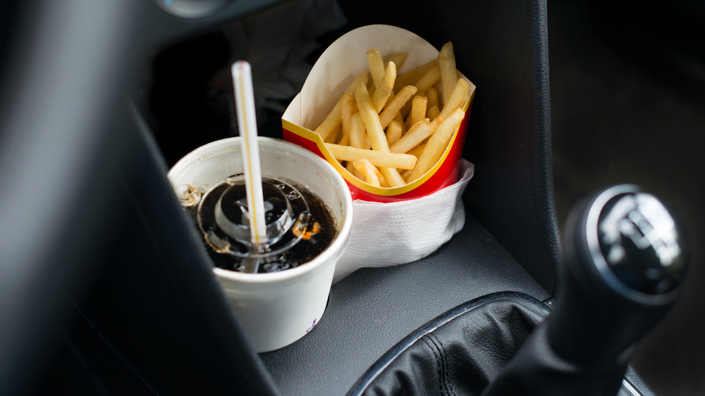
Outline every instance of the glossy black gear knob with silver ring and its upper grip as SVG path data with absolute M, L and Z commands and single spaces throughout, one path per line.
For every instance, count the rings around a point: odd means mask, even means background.
M 622 359 L 678 297 L 683 245 L 663 204 L 635 186 L 577 206 L 566 225 L 560 300 L 547 323 L 553 349 L 586 364 Z

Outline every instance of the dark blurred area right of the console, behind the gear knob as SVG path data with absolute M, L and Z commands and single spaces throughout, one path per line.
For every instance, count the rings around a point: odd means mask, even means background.
M 561 229 L 577 199 L 634 183 L 692 247 L 684 293 L 632 364 L 658 395 L 705 395 L 705 5 L 549 1 L 551 133 Z

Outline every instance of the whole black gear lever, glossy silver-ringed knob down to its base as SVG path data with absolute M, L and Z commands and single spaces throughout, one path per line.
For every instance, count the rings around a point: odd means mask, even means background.
M 563 258 L 555 309 L 483 396 L 615 395 L 634 346 L 673 305 L 687 270 L 673 217 L 633 185 L 573 209 Z

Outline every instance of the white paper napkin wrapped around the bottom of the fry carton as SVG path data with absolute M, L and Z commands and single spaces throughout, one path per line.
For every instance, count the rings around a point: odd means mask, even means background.
M 353 201 L 350 244 L 336 264 L 333 283 L 359 268 L 410 263 L 428 256 L 465 225 L 462 192 L 474 174 L 460 159 L 460 180 L 426 197 L 402 202 Z

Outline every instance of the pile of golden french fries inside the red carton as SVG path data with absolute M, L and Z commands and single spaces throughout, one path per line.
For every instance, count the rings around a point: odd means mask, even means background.
M 400 187 L 433 168 L 474 92 L 459 78 L 451 42 L 436 59 L 397 74 L 407 56 L 391 54 L 385 62 L 378 50 L 369 49 L 369 70 L 314 131 L 348 172 L 376 187 Z

